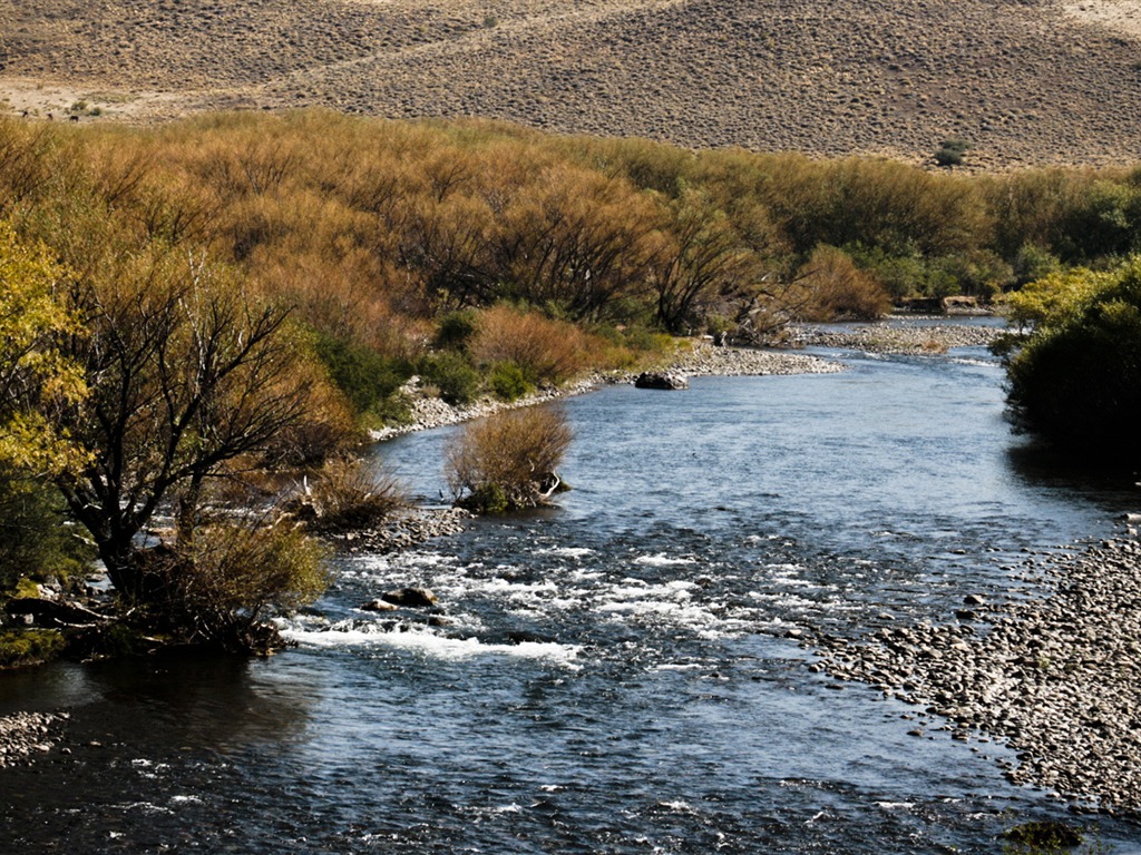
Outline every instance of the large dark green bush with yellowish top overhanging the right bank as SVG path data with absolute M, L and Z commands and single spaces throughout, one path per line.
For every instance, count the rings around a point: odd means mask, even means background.
M 1141 258 L 1047 283 L 1057 293 L 1012 298 L 1015 315 L 1036 320 L 1008 360 L 1017 421 L 1071 454 L 1141 463 Z

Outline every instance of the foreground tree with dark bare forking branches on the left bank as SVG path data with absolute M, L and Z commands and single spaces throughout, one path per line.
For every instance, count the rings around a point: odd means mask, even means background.
M 149 251 L 75 286 L 86 331 L 70 339 L 89 394 L 56 423 L 86 449 L 56 483 L 95 539 L 115 588 L 144 597 L 137 537 L 177 498 L 193 542 L 203 486 L 253 466 L 305 425 L 321 378 L 288 311 L 246 301 L 222 268 Z

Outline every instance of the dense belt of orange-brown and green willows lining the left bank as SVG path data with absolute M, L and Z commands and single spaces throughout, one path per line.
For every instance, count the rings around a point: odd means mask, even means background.
M 663 359 L 666 334 L 767 343 L 1111 269 L 1139 249 L 1141 170 L 961 176 L 324 112 L 16 120 L 0 220 L 0 573 L 75 579 L 98 555 L 120 598 L 9 610 L 82 625 L 84 652 L 265 650 L 265 616 L 322 586 L 306 528 L 346 502 L 314 494 L 351 479 L 321 472 L 408 417 L 411 377 L 511 400 Z M 373 518 L 380 494 L 358 491 Z

